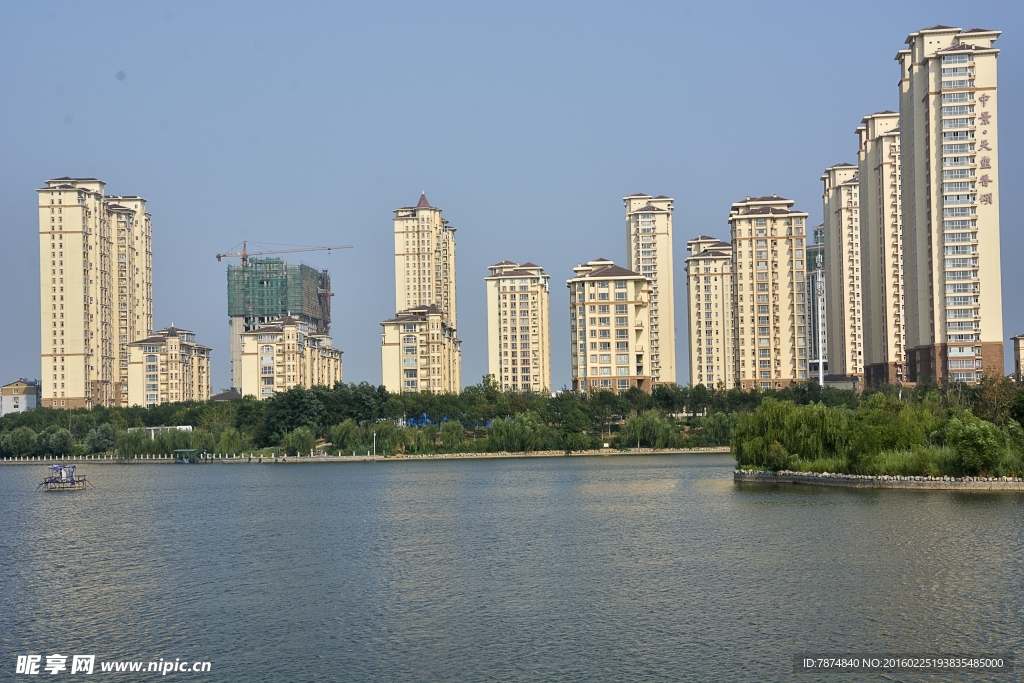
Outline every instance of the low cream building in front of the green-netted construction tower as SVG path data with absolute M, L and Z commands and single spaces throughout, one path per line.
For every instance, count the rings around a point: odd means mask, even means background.
M 243 396 L 269 398 L 292 387 L 333 387 L 342 381 L 342 351 L 327 335 L 309 333 L 305 324 L 284 315 L 242 333 Z

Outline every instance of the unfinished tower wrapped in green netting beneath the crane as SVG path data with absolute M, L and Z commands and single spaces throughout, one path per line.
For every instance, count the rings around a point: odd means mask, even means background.
M 242 386 L 242 334 L 284 315 L 299 322 L 307 335 L 328 335 L 331 278 L 327 270 L 281 258 L 247 258 L 227 266 L 227 316 L 230 325 L 231 385 Z

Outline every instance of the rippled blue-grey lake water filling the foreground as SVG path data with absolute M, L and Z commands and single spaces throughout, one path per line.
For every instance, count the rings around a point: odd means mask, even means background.
M 714 455 L 84 465 L 65 495 L 43 470 L 0 467 L 3 680 L 53 652 L 218 682 L 821 680 L 793 656 L 1022 647 L 1021 495 L 737 486 Z

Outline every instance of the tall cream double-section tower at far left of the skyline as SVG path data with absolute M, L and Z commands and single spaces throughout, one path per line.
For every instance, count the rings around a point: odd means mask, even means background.
M 42 397 L 47 408 L 128 405 L 128 344 L 153 332 L 145 201 L 96 178 L 39 194 Z

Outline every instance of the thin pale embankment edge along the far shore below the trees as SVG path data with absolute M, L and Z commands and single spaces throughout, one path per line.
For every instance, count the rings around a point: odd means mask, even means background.
M 366 462 L 399 462 L 423 460 L 501 460 L 509 458 L 577 458 L 594 456 L 674 456 L 698 454 L 729 453 L 728 446 L 711 446 L 706 449 L 598 449 L 594 451 L 535 451 L 531 453 L 436 453 L 436 454 L 400 454 L 396 456 L 280 456 L 258 457 L 248 455 L 213 455 L 202 460 L 202 465 L 251 465 L 259 463 L 366 463 Z M 137 458 L 84 457 L 84 458 L 25 458 L 0 460 L 0 465 L 173 465 L 175 458 L 167 456 L 138 456 Z

